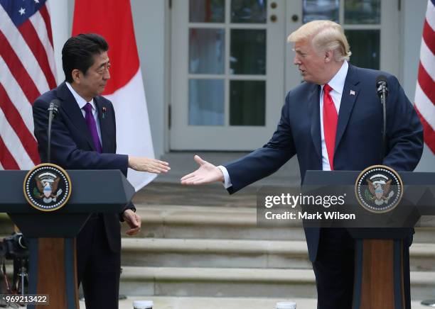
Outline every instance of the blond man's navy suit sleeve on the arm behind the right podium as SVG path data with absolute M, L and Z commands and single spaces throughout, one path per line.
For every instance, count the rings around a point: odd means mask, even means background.
M 389 85 L 387 146 L 382 164 L 397 171 L 413 171 L 423 152 L 423 127 L 395 77 L 390 78 Z

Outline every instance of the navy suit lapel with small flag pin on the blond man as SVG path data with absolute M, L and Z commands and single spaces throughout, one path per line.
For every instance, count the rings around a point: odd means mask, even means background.
M 348 125 L 350 114 L 352 113 L 355 101 L 360 94 L 357 69 L 349 64 L 348 75 L 346 76 L 343 94 L 341 95 L 340 111 L 338 111 L 337 133 L 335 135 L 335 150 L 340 144 L 345 129 Z

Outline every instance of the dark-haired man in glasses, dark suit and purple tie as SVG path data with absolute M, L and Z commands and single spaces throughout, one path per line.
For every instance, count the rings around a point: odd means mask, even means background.
M 65 169 L 119 169 L 167 172 L 168 163 L 145 157 L 115 154 L 117 148 L 112 103 L 100 96 L 109 74 L 109 46 L 100 35 L 80 34 L 62 50 L 65 82 L 33 103 L 33 121 L 41 161 L 47 161 L 47 109 L 60 102 L 51 135 L 51 162 Z M 127 106 L 125 108 L 128 108 Z M 132 132 L 131 134 L 134 134 Z M 134 235 L 141 218 L 133 204 L 119 214 L 94 213 L 77 237 L 77 278 L 83 284 L 86 308 L 118 308 L 121 235 L 125 220 Z

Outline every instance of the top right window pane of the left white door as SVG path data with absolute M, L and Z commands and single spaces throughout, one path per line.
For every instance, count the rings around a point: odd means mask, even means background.
M 267 0 L 232 0 L 232 23 L 266 23 Z

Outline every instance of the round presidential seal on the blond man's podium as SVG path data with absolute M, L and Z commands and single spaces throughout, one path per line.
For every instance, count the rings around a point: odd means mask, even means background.
M 372 213 L 387 213 L 402 199 L 403 183 L 394 169 L 385 165 L 368 167 L 358 176 L 355 196 L 363 208 Z

